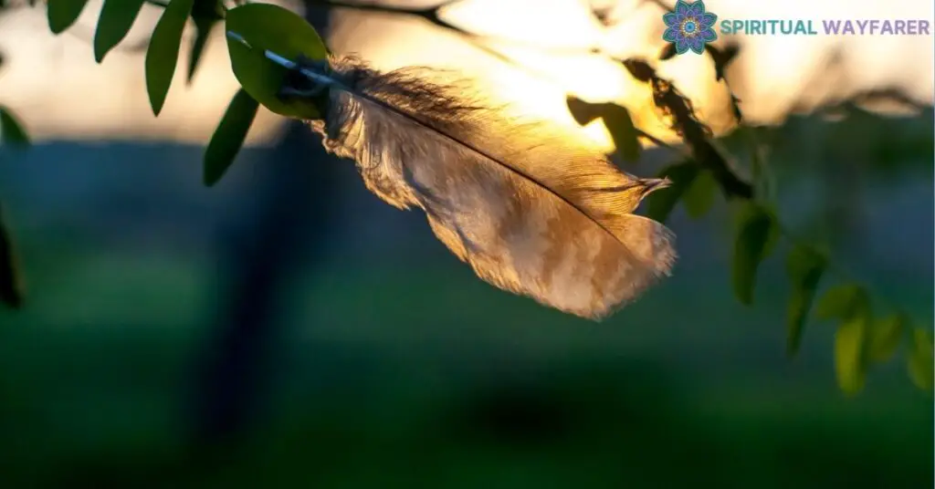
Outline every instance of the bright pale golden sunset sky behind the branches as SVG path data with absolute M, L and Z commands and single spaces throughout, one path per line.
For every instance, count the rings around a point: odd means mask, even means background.
M 424 0 L 416 3 L 431 5 Z M 13 108 L 39 139 L 206 141 L 237 90 L 223 33 L 213 33 L 190 87 L 184 83 L 187 50 L 182 50 L 165 110 L 154 118 L 140 47 L 145 46 L 159 10 L 145 7 L 121 47 L 96 65 L 91 39 L 100 5 L 100 0 L 89 2 L 79 22 L 60 36 L 48 31 L 42 7 L 16 10 L 0 18 L 0 50 L 6 59 L 0 72 L 0 103 Z M 932 22 L 935 11 L 924 0 L 711 0 L 706 7 L 719 20 L 815 22 Z M 593 10 L 601 11 L 605 22 Z M 463 0 L 445 7 L 442 18 L 478 35 L 471 38 L 416 18 L 339 9 L 327 41 L 332 50 L 357 51 L 385 69 L 405 65 L 455 68 L 480 79 L 522 112 L 557 122 L 574 123 L 566 107 L 568 93 L 588 102 L 618 103 L 630 109 L 642 129 L 673 140 L 652 108 L 651 93 L 619 63 L 630 57 L 658 56 L 665 47 L 663 13 L 659 4 L 638 0 Z M 187 36 L 192 34 L 191 27 Z M 750 122 L 780 123 L 794 110 L 811 110 L 882 88 L 899 90 L 928 105 L 935 96 L 932 36 L 720 36 L 716 45 L 726 41 L 741 46 L 727 77 Z M 688 53 L 655 62 L 655 67 L 692 98 L 702 120 L 715 133 L 734 127 L 727 86 L 714 79 L 709 56 Z M 281 122 L 262 111 L 248 144 L 274 141 Z M 599 122 L 584 132 L 597 145 L 612 148 Z

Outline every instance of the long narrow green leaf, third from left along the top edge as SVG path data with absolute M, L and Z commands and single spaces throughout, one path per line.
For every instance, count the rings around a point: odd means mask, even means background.
M 152 113 L 157 116 L 163 109 L 179 63 L 181 34 L 193 5 L 194 0 L 170 0 L 152 31 L 150 48 L 146 50 L 146 91 L 150 95 Z

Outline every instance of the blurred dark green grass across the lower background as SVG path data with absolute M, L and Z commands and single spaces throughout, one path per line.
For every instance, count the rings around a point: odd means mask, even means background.
M 4 487 L 931 482 L 930 398 L 897 363 L 841 396 L 827 325 L 785 359 L 776 274 L 752 309 L 712 265 L 592 324 L 453 260 L 336 256 L 294 284 L 258 432 L 193 454 L 182 406 L 212 314 L 209 266 L 56 256 L 29 270 L 30 308 L 0 315 Z M 930 284 L 900 286 L 889 295 L 926 307 Z

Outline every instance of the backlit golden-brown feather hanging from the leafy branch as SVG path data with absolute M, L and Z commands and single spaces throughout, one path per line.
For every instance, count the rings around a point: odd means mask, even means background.
M 423 209 L 482 280 L 599 320 L 670 274 L 673 234 L 632 214 L 650 180 L 568 129 L 507 116 L 431 68 L 381 73 L 349 56 L 316 66 L 334 81 L 324 120 L 310 122 L 324 147 L 354 160 L 382 200 Z

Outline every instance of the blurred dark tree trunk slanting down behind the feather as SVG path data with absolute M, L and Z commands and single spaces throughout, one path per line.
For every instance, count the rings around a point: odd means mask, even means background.
M 327 12 L 309 14 L 324 34 Z M 335 165 L 326 159 L 320 141 L 293 122 L 268 160 L 255 167 L 251 185 L 259 196 L 252 212 L 234 217 L 234 236 L 221 233 L 220 310 L 198 356 L 204 363 L 194 386 L 194 447 L 223 446 L 248 435 L 263 415 L 276 340 L 285 326 L 279 317 L 283 288 L 302 258 L 321 259 L 337 225 Z

